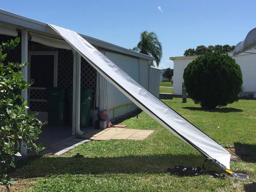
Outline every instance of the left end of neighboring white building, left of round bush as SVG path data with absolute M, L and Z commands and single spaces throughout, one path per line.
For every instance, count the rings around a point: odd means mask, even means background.
M 188 66 L 188 63 L 195 60 L 198 56 L 182 56 L 182 57 L 170 57 L 173 61 L 173 95 L 182 94 L 182 83 L 184 69 Z

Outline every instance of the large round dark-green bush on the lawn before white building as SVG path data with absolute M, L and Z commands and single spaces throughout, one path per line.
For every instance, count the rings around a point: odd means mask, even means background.
M 189 63 L 183 79 L 190 98 L 206 108 L 238 101 L 243 84 L 240 66 L 218 51 L 206 53 Z

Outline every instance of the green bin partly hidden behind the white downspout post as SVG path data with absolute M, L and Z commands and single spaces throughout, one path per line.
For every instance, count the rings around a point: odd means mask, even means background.
M 73 119 L 73 90 L 68 91 L 68 103 L 69 103 L 69 125 L 72 126 Z M 89 126 L 90 109 L 92 102 L 93 90 L 82 88 L 80 95 L 80 127 L 85 128 Z

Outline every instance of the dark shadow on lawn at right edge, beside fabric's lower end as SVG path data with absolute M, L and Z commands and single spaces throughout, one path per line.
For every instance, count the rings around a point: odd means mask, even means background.
M 248 163 L 256 162 L 256 145 L 236 142 L 234 146 L 236 155 L 238 155 L 242 161 Z

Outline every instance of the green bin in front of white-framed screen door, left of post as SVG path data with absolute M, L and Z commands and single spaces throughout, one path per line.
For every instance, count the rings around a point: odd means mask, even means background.
M 64 125 L 65 89 L 51 87 L 46 89 L 48 102 L 48 125 Z

